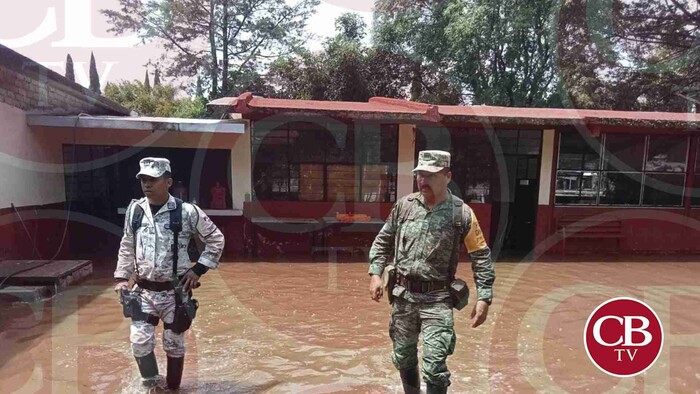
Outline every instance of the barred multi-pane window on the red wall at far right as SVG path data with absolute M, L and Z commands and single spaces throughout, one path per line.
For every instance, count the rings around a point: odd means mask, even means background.
M 561 133 L 555 204 L 681 206 L 688 146 L 683 136 Z

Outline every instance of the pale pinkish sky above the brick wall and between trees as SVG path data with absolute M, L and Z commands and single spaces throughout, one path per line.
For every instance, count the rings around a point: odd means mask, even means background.
M 293 0 L 288 0 L 293 1 Z M 307 30 L 317 38 L 308 48 L 318 50 L 335 34 L 335 18 L 356 12 L 372 24 L 374 0 L 321 0 Z M 63 75 L 66 55 L 73 59 L 76 82 L 89 85 L 90 52 L 95 53 L 101 86 L 119 80 L 143 80 L 149 59 L 163 51 L 154 43 L 140 44 L 134 36 L 117 37 L 101 9 L 117 9 L 118 0 L 29 0 L 3 7 L 0 44 Z M 151 71 L 151 78 L 153 70 Z M 163 78 L 166 82 L 167 78 Z

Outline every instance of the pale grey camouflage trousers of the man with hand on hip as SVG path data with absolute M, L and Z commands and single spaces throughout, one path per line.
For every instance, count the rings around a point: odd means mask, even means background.
M 175 292 L 140 289 L 141 310 L 158 316 L 163 323 L 172 323 L 175 318 Z M 148 355 L 156 347 L 156 327 L 145 321 L 131 321 L 131 350 L 134 356 Z M 185 333 L 175 334 L 163 330 L 163 350 L 170 357 L 185 356 Z

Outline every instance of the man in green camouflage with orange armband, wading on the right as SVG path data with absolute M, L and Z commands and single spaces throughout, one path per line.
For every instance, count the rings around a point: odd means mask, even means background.
M 391 294 L 389 336 L 394 347 L 392 361 L 406 393 L 420 392 L 419 334 L 423 336 L 427 393 L 446 393 L 450 385 L 446 360 L 454 351 L 456 335 L 449 286 L 460 243 L 469 252 L 476 282 L 472 327 L 486 320 L 491 305 L 495 279 L 491 251 L 474 212 L 449 192 L 449 167 L 449 152 L 420 152 L 413 170 L 420 191 L 396 202 L 369 253 L 369 291 L 377 302 L 383 294 L 381 275 L 394 256 L 396 286 Z M 455 218 L 460 217 L 463 225 L 456 225 Z

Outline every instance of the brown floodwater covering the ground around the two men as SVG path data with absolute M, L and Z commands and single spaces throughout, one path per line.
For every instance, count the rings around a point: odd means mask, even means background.
M 455 314 L 450 392 L 700 391 L 693 259 L 497 263 L 487 322 L 472 329 L 471 306 Z M 201 307 L 186 337 L 180 392 L 402 392 L 390 359 L 389 305 L 369 299 L 366 269 L 363 262 L 222 263 L 195 294 Z M 0 304 L 0 393 L 144 392 L 110 274 L 111 267 L 97 269 L 44 303 Z M 458 275 L 470 282 L 469 265 Z M 582 340 L 588 315 L 622 296 L 648 303 L 665 332 L 656 363 L 625 379 L 598 370 Z M 162 325 L 156 355 L 164 373 L 161 332 Z

